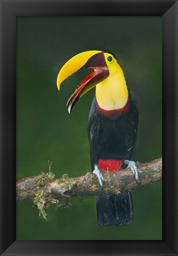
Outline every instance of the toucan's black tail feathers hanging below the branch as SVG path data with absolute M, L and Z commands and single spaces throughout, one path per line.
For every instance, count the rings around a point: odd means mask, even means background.
M 130 191 L 124 190 L 118 196 L 97 196 L 97 220 L 101 226 L 124 226 L 133 219 Z

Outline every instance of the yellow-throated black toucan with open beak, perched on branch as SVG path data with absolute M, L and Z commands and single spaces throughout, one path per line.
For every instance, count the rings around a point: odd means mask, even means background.
M 128 89 L 123 69 L 116 56 L 102 50 L 88 50 L 75 55 L 62 66 L 57 87 L 80 69 L 91 69 L 67 102 L 68 112 L 87 91 L 95 87 L 88 119 L 91 169 L 103 186 L 104 171 L 130 167 L 138 180 L 133 161 L 136 147 L 138 108 L 133 91 Z M 97 221 L 100 226 L 124 226 L 133 219 L 129 190 L 119 195 L 96 197 Z

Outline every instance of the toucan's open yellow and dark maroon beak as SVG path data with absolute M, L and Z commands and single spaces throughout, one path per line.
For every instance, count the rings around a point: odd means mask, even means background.
M 60 90 L 61 83 L 67 79 L 68 76 L 84 68 L 91 68 L 94 69 L 94 71 L 84 78 L 69 98 L 67 102 L 69 113 L 79 98 L 91 88 L 95 87 L 95 85 L 106 79 L 109 75 L 103 52 L 97 50 L 83 52 L 72 57 L 64 66 L 62 66 L 57 78 L 58 89 Z

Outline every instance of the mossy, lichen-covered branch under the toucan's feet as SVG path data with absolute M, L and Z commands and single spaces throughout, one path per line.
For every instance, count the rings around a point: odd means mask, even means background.
M 76 178 L 70 178 L 68 174 L 64 174 L 62 178 L 55 179 L 55 175 L 51 172 L 51 164 L 49 164 L 47 174 L 42 172 L 38 176 L 17 181 L 17 201 L 33 199 L 34 204 L 37 204 L 39 214 L 46 218 L 45 207 L 54 203 L 59 207 L 68 207 L 70 197 L 120 194 L 123 190 L 162 179 L 162 158 L 145 164 L 137 162 L 137 168 L 139 181 L 136 181 L 130 168 L 116 172 L 103 172 L 104 183 L 101 188 L 97 176 L 92 172 Z

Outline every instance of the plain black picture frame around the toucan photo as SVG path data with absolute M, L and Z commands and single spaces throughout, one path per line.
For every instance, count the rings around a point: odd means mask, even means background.
M 16 241 L 16 17 L 160 15 L 163 20 L 163 240 Z M 175 0 L 1 0 L 1 255 L 177 255 L 177 26 Z

